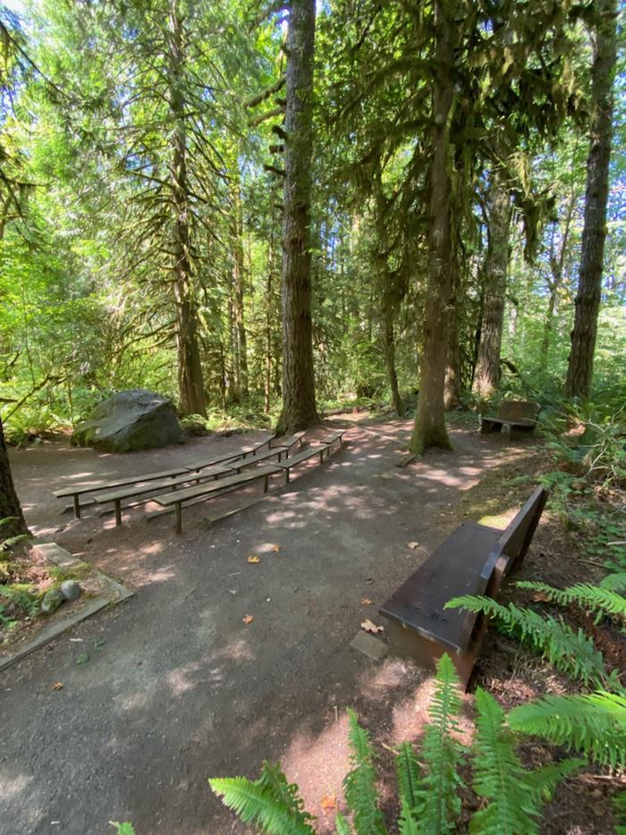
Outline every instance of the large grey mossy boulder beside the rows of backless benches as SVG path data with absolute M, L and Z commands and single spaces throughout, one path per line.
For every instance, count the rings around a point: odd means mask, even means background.
M 183 443 L 172 402 L 145 389 L 117 392 L 76 426 L 72 443 L 99 450 L 130 452 Z

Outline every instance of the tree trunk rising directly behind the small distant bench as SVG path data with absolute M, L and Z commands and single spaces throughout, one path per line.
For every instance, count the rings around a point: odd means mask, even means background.
M 504 320 L 506 274 L 509 266 L 511 198 L 503 172 L 497 169 L 489 189 L 489 246 L 485 259 L 480 340 L 472 391 L 489 398 L 500 384 L 500 350 Z

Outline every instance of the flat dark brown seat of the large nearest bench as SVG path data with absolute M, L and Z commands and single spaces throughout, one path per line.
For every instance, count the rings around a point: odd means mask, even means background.
M 380 613 L 461 652 L 467 612 L 444 610 L 444 604 L 452 597 L 474 594 L 480 571 L 501 535 L 493 527 L 465 522 L 393 593 Z

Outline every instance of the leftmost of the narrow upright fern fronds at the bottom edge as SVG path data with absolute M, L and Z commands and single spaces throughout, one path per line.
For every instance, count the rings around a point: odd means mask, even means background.
M 353 814 L 357 835 L 385 835 L 385 822 L 378 808 L 376 792 L 376 753 L 368 731 L 360 727 L 357 714 L 349 709 L 348 716 L 352 769 L 343 780 L 346 803 Z

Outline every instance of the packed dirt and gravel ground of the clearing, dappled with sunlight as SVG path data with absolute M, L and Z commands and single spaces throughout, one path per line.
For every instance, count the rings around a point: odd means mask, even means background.
M 383 746 L 381 790 L 393 814 L 385 746 L 419 739 L 432 678 L 406 662 L 370 661 L 351 639 L 366 617 L 380 622 L 376 606 L 464 519 L 503 526 L 531 490 L 513 477 L 541 471 L 546 456 L 539 439 L 511 443 L 461 422 L 452 453 L 397 468 L 410 421 L 345 417 L 356 422 L 348 445 L 323 467 L 298 468 L 290 485 L 214 527 L 203 519 L 216 502 L 187 510 L 182 536 L 171 516 L 147 522 L 145 508 L 119 528 L 93 510 L 70 519 L 52 490 L 236 450 L 254 434 L 126 456 L 67 443 L 13 451 L 33 532 L 135 595 L 4 674 L 2 835 L 95 835 L 112 831 L 111 820 L 133 822 L 138 835 L 244 832 L 207 778 L 256 777 L 264 759 L 283 762 L 319 831 L 331 831 L 349 768 L 346 706 Z M 239 501 L 219 500 L 224 510 Z M 545 514 L 523 576 L 589 579 L 599 569 L 581 560 Z M 567 689 L 497 637 L 485 646 L 475 681 L 505 706 Z M 86 652 L 89 662 L 77 663 Z M 529 746 L 529 762 L 544 761 L 546 750 Z M 613 831 L 613 789 L 592 772 L 569 780 L 542 831 Z

